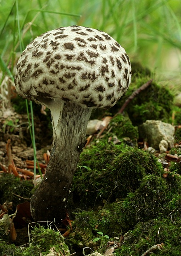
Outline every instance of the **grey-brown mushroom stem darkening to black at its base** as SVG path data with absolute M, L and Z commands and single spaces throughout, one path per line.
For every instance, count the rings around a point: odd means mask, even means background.
M 47 104 L 52 114 L 53 143 L 50 162 L 43 181 L 31 198 L 35 221 L 60 223 L 68 212 L 68 197 L 92 108 L 75 102 L 62 102 L 57 109 Z M 57 118 L 57 113 L 59 118 Z

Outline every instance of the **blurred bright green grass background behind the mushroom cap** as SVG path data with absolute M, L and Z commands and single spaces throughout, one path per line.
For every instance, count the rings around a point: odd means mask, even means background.
M 1 60 L 13 72 L 31 40 L 71 25 L 107 32 L 160 77 L 181 74 L 181 0 L 0 0 Z

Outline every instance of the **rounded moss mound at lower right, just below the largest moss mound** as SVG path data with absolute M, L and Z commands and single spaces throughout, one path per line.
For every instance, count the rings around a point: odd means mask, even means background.
M 148 221 L 163 211 L 167 200 L 168 184 L 155 174 L 148 174 L 134 193 L 129 193 L 120 204 L 119 223 L 123 228 L 134 226 L 139 221 Z

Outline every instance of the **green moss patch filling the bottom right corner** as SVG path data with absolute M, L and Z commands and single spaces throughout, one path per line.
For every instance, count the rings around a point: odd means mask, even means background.
M 134 230 L 127 232 L 124 244 L 115 250 L 115 255 L 138 256 L 155 244 L 164 243 L 161 250 L 154 251 L 155 256 L 176 256 L 181 254 L 181 220 L 153 219 L 139 222 Z

